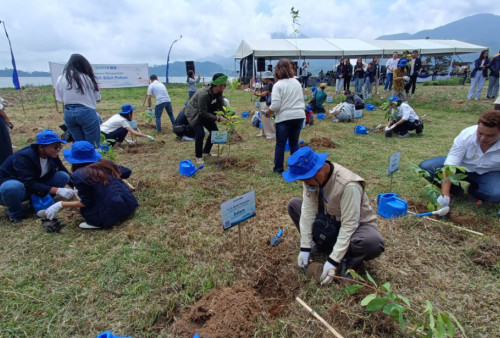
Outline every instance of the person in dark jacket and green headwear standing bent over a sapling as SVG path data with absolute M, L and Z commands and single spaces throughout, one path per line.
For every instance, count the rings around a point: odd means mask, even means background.
M 196 91 L 191 97 L 184 110 L 189 125 L 194 129 L 194 150 L 198 164 L 203 163 L 203 155 L 210 156 L 212 150 L 212 140 L 210 133 L 218 131 L 217 122 L 226 119 L 217 115 L 217 111 L 222 110 L 224 105 L 224 89 L 226 89 L 227 75 L 217 73 L 213 76 L 209 87 L 203 87 Z M 206 128 L 209 131 L 205 147 L 203 138 Z

